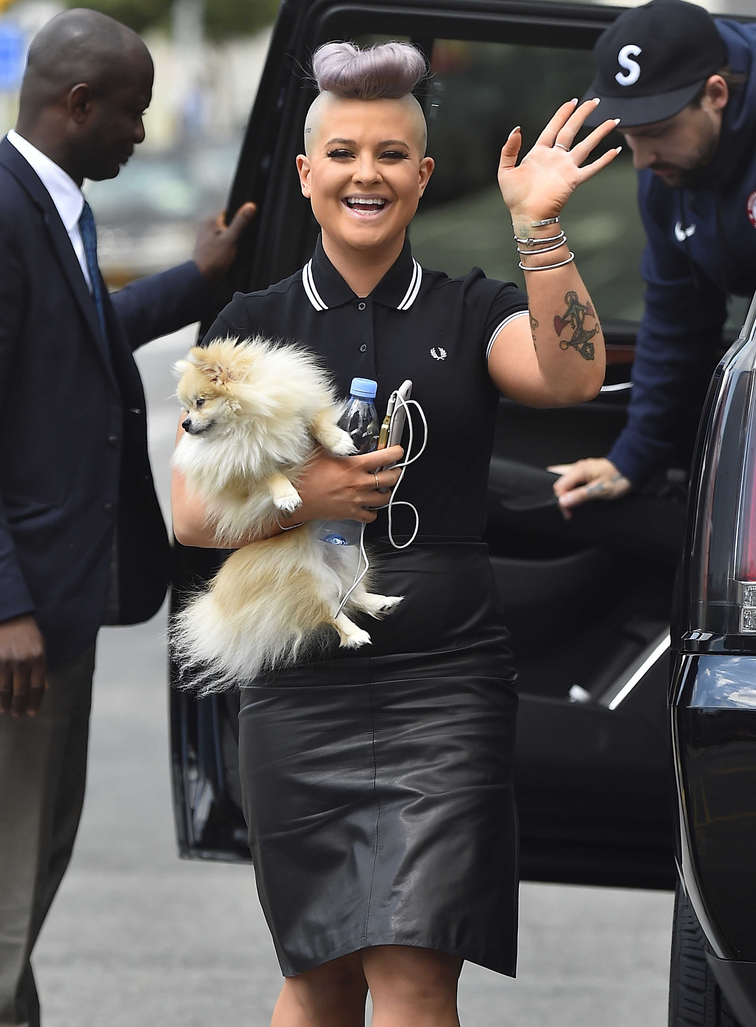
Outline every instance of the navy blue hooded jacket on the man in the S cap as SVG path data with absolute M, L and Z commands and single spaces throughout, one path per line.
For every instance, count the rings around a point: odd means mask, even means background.
M 732 71 L 714 160 L 694 189 L 638 175 L 645 309 L 628 424 L 609 459 L 635 485 L 689 444 L 721 343 L 727 294 L 756 291 L 756 25 L 717 20 Z

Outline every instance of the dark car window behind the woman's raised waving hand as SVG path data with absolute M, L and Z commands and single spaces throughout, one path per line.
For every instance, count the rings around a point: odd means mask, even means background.
M 521 124 L 527 152 L 556 108 L 582 96 L 593 74 L 590 51 L 436 40 L 424 105 L 437 168 L 411 228 L 421 264 L 452 275 L 479 265 L 491 277 L 521 280 L 496 184 L 501 146 Z M 619 142 L 612 134 L 606 146 Z M 562 223 L 601 316 L 638 319 L 644 233 L 627 149 L 577 191 Z

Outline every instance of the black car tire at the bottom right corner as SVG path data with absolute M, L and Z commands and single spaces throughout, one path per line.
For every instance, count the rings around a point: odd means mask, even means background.
M 709 944 L 678 881 L 672 920 L 669 1027 L 740 1027 L 706 958 Z

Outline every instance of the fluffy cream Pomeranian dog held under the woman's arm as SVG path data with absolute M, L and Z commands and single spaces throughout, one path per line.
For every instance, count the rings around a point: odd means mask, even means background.
M 337 424 L 343 405 L 328 375 L 305 350 L 263 338 L 195 346 L 175 370 L 187 416 L 174 465 L 201 496 L 219 547 L 260 536 L 174 619 L 183 680 L 202 693 L 233 687 L 295 662 L 326 627 L 341 646 L 369 643 L 347 614 L 382 617 L 402 597 L 370 593 L 366 577 L 338 612 L 358 571 L 358 547 L 319 541 L 317 522 L 266 537 L 276 515 L 301 504 L 296 483 L 315 443 L 340 456 L 354 452 Z

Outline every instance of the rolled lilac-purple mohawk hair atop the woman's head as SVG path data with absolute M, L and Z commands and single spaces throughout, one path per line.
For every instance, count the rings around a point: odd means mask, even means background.
M 401 100 L 426 72 L 422 53 L 409 43 L 324 43 L 312 55 L 320 92 L 344 100 Z

